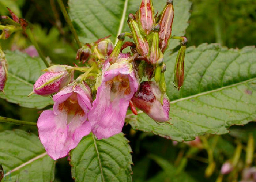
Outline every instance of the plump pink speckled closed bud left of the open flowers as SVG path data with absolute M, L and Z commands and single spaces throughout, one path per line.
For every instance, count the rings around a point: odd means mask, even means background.
M 68 68 L 71 67 L 67 65 L 54 65 L 43 70 L 47 72 L 41 75 L 35 82 L 31 94 L 49 96 L 60 91 L 61 88 L 68 85 L 74 78 L 74 70 Z

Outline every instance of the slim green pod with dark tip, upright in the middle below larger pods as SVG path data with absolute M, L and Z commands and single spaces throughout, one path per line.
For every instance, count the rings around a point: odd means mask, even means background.
M 149 63 L 152 65 L 157 64 L 158 60 L 163 59 L 163 53 L 161 49 L 159 49 L 159 24 L 155 27 L 155 32 L 153 34 L 153 40 L 152 40 L 152 45 L 151 45 L 151 50 L 150 50 L 150 59 Z

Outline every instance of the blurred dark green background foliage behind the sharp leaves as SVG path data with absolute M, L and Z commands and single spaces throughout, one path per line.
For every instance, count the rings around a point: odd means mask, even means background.
M 256 44 L 255 0 L 191 0 L 191 18 L 186 36 L 188 46 L 201 43 L 220 43 L 229 48 L 242 48 Z M 64 1 L 67 5 L 67 1 Z M 153 1 L 157 3 L 157 0 Z M 52 62 L 69 64 L 75 60 L 76 46 L 71 32 L 61 15 L 56 0 L 0 0 L 0 14 L 8 15 L 9 7 L 19 17 L 33 24 L 33 33 L 40 48 Z M 25 50 L 31 45 L 21 33 L 0 41 L 4 50 Z M 36 122 L 40 110 L 27 109 L 0 99 L 0 115 Z M 0 131 L 23 129 L 37 133 L 37 128 L 0 124 Z M 233 160 L 237 146 L 242 146 L 236 168 L 222 179 L 236 182 L 242 179 L 245 168 L 255 166 L 245 163 L 248 137 L 256 142 L 256 124 L 233 126 L 223 136 L 203 136 L 197 146 L 191 143 L 173 143 L 151 133 L 135 132 L 125 126 L 123 132 L 131 141 L 133 150 L 134 182 L 221 182 L 220 169 L 227 160 Z M 219 181 L 218 181 L 219 180 Z M 56 163 L 56 182 L 74 181 L 67 158 Z M 253 181 L 253 180 L 252 180 Z

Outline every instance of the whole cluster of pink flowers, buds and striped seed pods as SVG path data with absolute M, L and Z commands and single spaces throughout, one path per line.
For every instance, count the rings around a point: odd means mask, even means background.
M 53 65 L 43 70 L 46 73 L 31 94 L 57 93 L 53 110 L 43 111 L 37 123 L 40 140 L 53 159 L 66 156 L 90 132 L 97 139 L 120 133 L 128 108 L 134 114 L 138 108 L 156 122 L 169 121 L 163 54 L 170 38 L 182 41 L 174 68 L 174 85 L 179 89 L 187 43 L 185 37 L 171 36 L 173 16 L 171 0 L 159 16 L 151 0 L 142 0 L 136 14 L 129 14 L 131 31 L 121 33 L 115 46 L 104 37 L 78 50 L 81 67 Z M 124 42 L 125 37 L 134 43 Z M 127 47 L 131 51 L 123 53 Z M 75 71 L 81 74 L 74 77 Z

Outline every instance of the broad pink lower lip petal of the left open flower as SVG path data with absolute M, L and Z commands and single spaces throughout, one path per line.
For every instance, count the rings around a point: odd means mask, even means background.
M 46 110 L 38 118 L 37 126 L 41 143 L 48 155 L 54 160 L 68 155 L 75 148 L 82 137 L 91 131 L 91 125 L 85 116 L 75 115 L 67 124 L 67 113 L 55 115 Z

